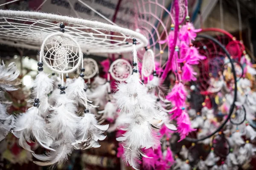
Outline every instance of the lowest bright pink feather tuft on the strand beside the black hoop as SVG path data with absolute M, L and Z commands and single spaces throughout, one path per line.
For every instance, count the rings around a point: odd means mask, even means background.
M 183 111 L 176 120 L 178 129 L 177 131 L 180 133 L 180 140 L 178 142 L 180 142 L 185 139 L 190 132 L 195 131 L 195 129 L 191 127 L 189 115 L 185 111 Z

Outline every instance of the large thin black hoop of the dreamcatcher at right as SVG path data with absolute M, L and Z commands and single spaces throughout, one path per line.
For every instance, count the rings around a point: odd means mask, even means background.
M 228 120 L 230 119 L 232 113 L 233 113 L 233 110 L 235 108 L 235 102 L 236 102 L 236 96 L 237 96 L 237 79 L 236 79 L 236 71 L 235 71 L 235 66 L 233 64 L 233 61 L 231 60 L 231 56 L 229 54 L 229 52 L 226 50 L 226 48 L 218 41 L 216 40 L 215 38 L 212 38 L 208 35 L 198 35 L 197 36 L 198 38 L 204 38 L 204 39 L 208 39 L 208 40 L 211 40 L 212 42 L 214 42 L 215 44 L 219 45 L 219 47 L 225 52 L 225 54 L 227 55 L 227 57 L 230 59 L 230 64 L 231 64 L 231 70 L 232 70 L 232 73 L 233 73 L 233 77 L 234 77 L 234 84 L 235 84 L 235 88 L 234 88 L 234 99 L 233 99 L 233 102 L 232 104 L 230 105 L 230 110 L 229 110 L 229 114 L 227 116 L 227 118 L 224 120 L 224 122 L 211 134 L 209 134 L 208 136 L 205 136 L 201 139 L 194 139 L 194 138 L 189 138 L 189 137 L 186 137 L 185 140 L 189 141 L 189 142 L 199 142 L 199 141 L 203 141 L 205 139 L 208 139 L 210 137 L 212 137 L 213 135 L 215 135 L 215 133 L 217 133 L 218 131 L 220 131 L 228 122 Z

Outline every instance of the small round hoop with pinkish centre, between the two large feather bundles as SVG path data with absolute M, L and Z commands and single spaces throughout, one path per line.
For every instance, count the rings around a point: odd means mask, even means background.
M 132 74 L 131 64 L 125 59 L 116 59 L 109 68 L 109 73 L 117 81 L 125 81 Z

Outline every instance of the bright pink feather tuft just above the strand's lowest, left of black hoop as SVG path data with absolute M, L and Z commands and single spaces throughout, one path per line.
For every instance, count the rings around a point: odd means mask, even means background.
M 166 99 L 171 101 L 177 108 L 183 107 L 186 100 L 186 91 L 184 85 L 180 82 L 175 84 L 172 91 L 166 96 Z

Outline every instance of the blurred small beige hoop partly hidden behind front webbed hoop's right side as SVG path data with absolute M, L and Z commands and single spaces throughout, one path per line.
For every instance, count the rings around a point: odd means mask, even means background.
M 90 79 L 99 73 L 97 62 L 92 58 L 84 58 L 84 79 Z

